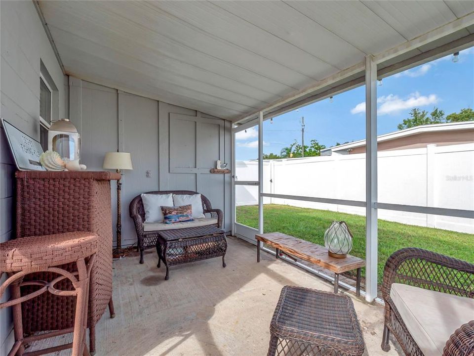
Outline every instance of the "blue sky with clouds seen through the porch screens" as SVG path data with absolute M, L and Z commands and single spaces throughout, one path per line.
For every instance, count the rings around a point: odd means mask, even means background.
M 384 78 L 377 86 L 377 131 L 387 134 L 408 117 L 414 107 L 445 114 L 474 106 L 474 47 Z M 288 112 L 264 123 L 264 153 L 279 154 L 295 139 L 301 141 L 301 117 L 305 117 L 305 144 L 311 139 L 330 147 L 336 142 L 365 138 L 365 87 L 359 87 Z M 236 159 L 257 158 L 257 131 L 236 136 Z

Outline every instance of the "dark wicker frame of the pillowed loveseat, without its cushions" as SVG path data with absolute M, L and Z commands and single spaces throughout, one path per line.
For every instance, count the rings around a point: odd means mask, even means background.
M 144 194 L 199 194 L 192 190 L 161 190 L 151 191 Z M 201 194 L 202 209 L 204 214 L 209 213 L 213 218 L 217 218 L 217 223 L 214 226 L 222 228 L 222 221 L 224 214 L 220 209 L 212 209 L 211 202 L 204 195 Z M 143 231 L 143 222 L 145 221 L 145 210 L 141 195 L 137 195 L 130 202 L 129 205 L 130 218 L 135 223 L 135 230 L 137 232 L 138 250 L 140 251 L 140 263 L 143 263 L 143 253 L 145 250 L 155 248 L 158 238 L 158 231 Z

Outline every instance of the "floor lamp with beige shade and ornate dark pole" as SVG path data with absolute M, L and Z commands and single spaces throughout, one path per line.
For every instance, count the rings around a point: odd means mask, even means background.
M 115 169 L 121 175 L 121 170 L 132 170 L 132 159 L 130 153 L 127 152 L 107 152 L 104 157 L 104 169 Z M 112 251 L 114 258 L 119 258 L 127 254 L 127 250 L 122 249 L 122 222 L 121 222 L 121 207 L 120 207 L 120 190 L 122 182 L 117 181 L 117 246 Z

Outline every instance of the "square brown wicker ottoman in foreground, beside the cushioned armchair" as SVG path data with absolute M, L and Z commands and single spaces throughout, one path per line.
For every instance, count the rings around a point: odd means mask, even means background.
M 364 339 L 351 298 L 285 286 L 270 323 L 268 356 L 362 355 Z

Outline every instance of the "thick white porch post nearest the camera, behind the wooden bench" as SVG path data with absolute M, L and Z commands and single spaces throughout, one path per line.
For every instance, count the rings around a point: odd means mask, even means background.
M 365 300 L 377 297 L 377 63 L 365 57 Z

